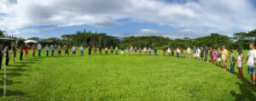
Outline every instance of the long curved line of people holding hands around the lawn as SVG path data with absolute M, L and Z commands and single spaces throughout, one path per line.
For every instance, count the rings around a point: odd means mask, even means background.
M 53 57 L 55 56 L 55 50 L 57 50 L 57 55 L 61 56 L 61 52 L 63 52 L 65 54 L 65 56 L 69 55 L 69 51 L 70 48 L 68 48 L 68 45 L 65 44 L 63 46 L 61 46 L 61 44 L 59 45 L 48 45 L 46 44 L 45 47 L 43 48 L 42 45 L 40 43 L 38 43 L 38 46 L 36 47 L 34 44 L 32 45 L 31 49 L 32 49 L 32 57 L 35 56 L 36 53 L 36 48 L 38 48 L 38 57 L 41 56 L 41 52 L 42 49 L 45 49 L 46 51 L 46 56 L 49 56 L 49 50 L 50 50 L 50 55 Z M 243 57 L 243 53 L 242 53 L 242 49 L 238 48 L 237 49 L 237 56 L 235 56 L 233 54 L 233 50 L 227 50 L 225 48 L 225 46 L 222 46 L 221 48 L 208 48 L 208 47 L 194 47 L 193 50 L 191 48 L 187 48 L 186 49 L 186 53 L 187 53 L 187 59 L 191 59 L 191 55 L 193 56 L 193 59 L 198 59 L 201 61 L 207 61 L 207 63 L 212 63 L 212 65 L 217 65 L 220 68 L 224 68 L 224 71 L 227 70 L 227 62 L 228 59 L 230 59 L 230 73 L 234 74 L 234 68 L 235 65 L 237 64 L 237 68 L 238 68 L 238 72 L 239 72 L 239 77 L 242 79 L 242 67 L 243 64 L 246 64 L 247 62 L 247 72 L 250 75 L 250 81 L 253 85 L 255 85 L 255 75 L 254 72 L 256 69 L 256 50 L 255 50 L 255 45 L 254 43 L 250 43 L 249 45 L 249 53 L 247 53 L 247 58 L 244 59 Z M 2 51 L 2 45 L 0 45 L 0 70 L 1 70 L 1 66 L 2 66 L 2 61 L 3 61 L 3 57 L 5 58 L 5 64 L 6 66 L 9 65 L 9 58 L 10 55 L 13 55 L 12 58 L 12 63 L 15 64 L 15 57 L 17 54 L 17 47 L 15 42 L 12 43 L 11 45 L 11 50 L 9 51 L 9 47 L 5 47 L 4 51 Z M 18 52 L 20 53 L 20 60 L 22 60 L 23 58 L 23 51 L 25 49 L 25 58 L 27 57 L 28 54 L 28 50 L 29 50 L 29 45 L 26 43 L 25 46 L 23 46 L 22 44 L 19 47 Z M 80 56 L 84 55 L 84 47 L 81 46 L 80 48 L 77 48 L 76 46 L 73 46 L 71 48 L 72 50 L 72 54 L 73 56 L 76 55 L 77 49 L 79 49 L 80 52 Z M 151 52 L 154 51 L 154 56 L 158 55 L 158 48 L 118 48 L 117 46 L 115 48 L 113 48 L 113 46 L 111 46 L 110 48 L 102 48 L 102 46 L 93 46 L 93 47 L 88 47 L 88 54 L 91 55 L 91 51 L 93 49 L 94 55 L 97 54 L 97 50 L 99 51 L 99 54 L 102 54 L 102 52 L 105 50 L 105 54 L 108 54 L 108 50 L 110 50 L 110 53 L 113 54 L 113 52 L 115 52 L 115 54 L 118 54 L 118 51 L 120 50 L 120 54 L 124 54 L 126 51 L 126 54 L 144 54 L 144 55 L 151 55 Z M 177 57 L 177 58 L 184 58 L 184 49 L 183 48 L 163 48 L 162 50 L 162 55 L 166 56 L 166 50 L 168 53 L 168 56 L 173 56 L 173 57 Z M 137 53 L 138 52 L 138 53 Z M 175 56 L 176 53 L 176 56 Z M 192 54 L 193 53 L 193 54 Z

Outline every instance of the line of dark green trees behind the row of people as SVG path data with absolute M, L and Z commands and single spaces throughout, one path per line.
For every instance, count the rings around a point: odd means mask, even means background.
M 0 31 L 0 36 L 3 35 L 3 31 Z M 38 37 L 31 37 L 28 39 L 38 41 Z M 19 38 L 18 42 L 22 42 L 25 39 Z M 119 38 L 117 36 L 108 36 L 107 33 L 97 33 L 91 31 L 77 31 L 74 34 L 62 35 L 61 38 L 50 37 L 39 42 L 45 44 L 50 42 L 44 42 L 47 40 L 54 40 L 55 43 L 76 45 L 76 46 L 102 46 L 105 47 L 151 47 L 151 48 L 192 48 L 197 47 L 212 47 L 219 48 L 225 45 L 227 48 L 248 48 L 250 42 L 256 42 L 256 29 L 248 32 L 236 32 L 231 36 L 224 36 L 218 33 L 211 33 L 209 36 L 202 36 L 197 38 L 183 37 L 177 39 L 170 39 L 164 36 L 126 36 Z

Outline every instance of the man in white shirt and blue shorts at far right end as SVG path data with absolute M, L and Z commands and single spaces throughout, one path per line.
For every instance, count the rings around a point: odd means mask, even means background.
M 253 83 L 253 86 L 255 86 L 255 70 L 256 69 L 256 50 L 254 46 L 254 42 L 250 43 L 250 51 L 247 54 L 247 65 L 248 65 L 248 73 L 251 76 L 251 83 Z

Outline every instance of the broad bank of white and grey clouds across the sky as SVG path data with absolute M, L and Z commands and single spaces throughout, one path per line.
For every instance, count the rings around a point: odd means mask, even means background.
M 2 0 L 0 27 L 7 31 L 33 25 L 86 24 L 111 27 L 119 25 L 115 20 L 124 18 L 176 28 L 186 27 L 198 34 L 206 34 L 212 29 L 230 34 L 232 29 L 250 31 L 256 26 L 255 8 L 249 0 L 187 0 L 186 3 L 163 1 Z M 210 30 L 202 30 L 204 27 Z

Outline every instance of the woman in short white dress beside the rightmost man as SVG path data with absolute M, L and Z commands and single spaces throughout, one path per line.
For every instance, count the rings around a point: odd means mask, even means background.
M 235 60 L 235 64 L 236 64 L 236 61 L 237 61 L 237 68 L 238 68 L 239 78 L 242 79 L 243 78 L 242 77 L 242 70 L 241 70 L 242 65 L 243 65 L 242 62 L 245 63 L 245 59 L 243 59 L 242 52 L 241 52 L 240 48 L 237 49 L 237 53 L 238 53 L 238 55 L 237 55 L 237 58 Z

